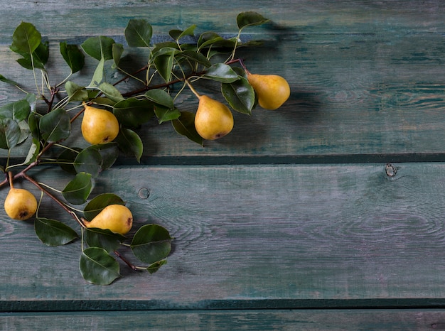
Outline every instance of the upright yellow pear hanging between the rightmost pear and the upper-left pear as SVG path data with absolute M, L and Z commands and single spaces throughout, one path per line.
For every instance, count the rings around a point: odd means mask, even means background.
M 203 139 L 221 138 L 233 129 L 232 112 L 225 104 L 201 95 L 195 114 L 195 129 Z

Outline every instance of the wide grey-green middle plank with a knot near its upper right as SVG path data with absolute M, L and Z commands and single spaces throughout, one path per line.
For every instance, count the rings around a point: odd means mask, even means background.
M 168 264 L 151 276 L 122 266 L 124 278 L 92 286 L 78 271 L 80 242 L 43 246 L 32 222 L 1 211 L 0 308 L 443 306 L 445 164 L 394 166 L 395 176 L 385 164 L 107 170 L 93 195 L 122 196 L 135 228 L 169 229 Z M 53 171 L 34 175 L 65 185 Z M 39 215 L 70 222 L 48 200 Z

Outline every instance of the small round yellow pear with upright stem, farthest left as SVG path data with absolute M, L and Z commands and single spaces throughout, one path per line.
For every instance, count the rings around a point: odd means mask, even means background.
M 9 193 L 6 195 L 4 209 L 12 219 L 24 221 L 36 213 L 37 200 L 34 195 L 23 188 L 14 188 L 12 175 L 9 173 Z

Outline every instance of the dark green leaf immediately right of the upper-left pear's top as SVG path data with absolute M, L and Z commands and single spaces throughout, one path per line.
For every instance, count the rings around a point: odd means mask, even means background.
M 113 113 L 123 126 L 138 127 L 154 116 L 153 102 L 128 98 L 114 104 Z

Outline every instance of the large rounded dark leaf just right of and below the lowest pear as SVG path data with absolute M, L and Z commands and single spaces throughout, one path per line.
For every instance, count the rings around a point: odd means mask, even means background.
M 133 254 L 147 264 L 165 259 L 171 251 L 168 231 L 157 224 L 146 224 L 135 234 L 130 244 Z

